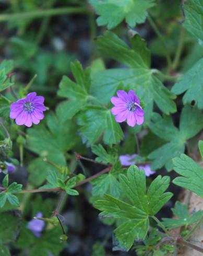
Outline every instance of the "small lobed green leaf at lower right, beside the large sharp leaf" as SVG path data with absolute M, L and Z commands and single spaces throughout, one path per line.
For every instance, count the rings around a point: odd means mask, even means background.
M 176 219 L 162 218 L 163 225 L 169 229 L 196 223 L 199 221 L 201 215 L 203 214 L 203 211 L 198 211 L 192 216 L 189 216 L 187 205 L 181 204 L 178 201 L 175 203 L 175 208 L 172 208 L 172 212 L 177 217 Z

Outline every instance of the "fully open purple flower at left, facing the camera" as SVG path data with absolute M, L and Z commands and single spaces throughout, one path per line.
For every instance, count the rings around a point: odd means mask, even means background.
M 10 105 L 10 118 L 16 119 L 16 124 L 30 127 L 32 123 L 39 124 L 44 118 L 44 97 L 30 92 L 25 99 L 20 99 Z

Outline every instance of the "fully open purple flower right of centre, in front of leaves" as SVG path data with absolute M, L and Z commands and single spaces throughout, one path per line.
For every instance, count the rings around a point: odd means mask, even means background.
M 121 123 L 127 119 L 127 124 L 132 127 L 136 123 L 142 124 L 145 111 L 140 107 L 140 101 L 134 90 L 129 90 L 128 94 L 123 90 L 118 90 L 117 96 L 111 98 L 111 102 L 115 105 L 111 111 L 116 115 L 116 121 Z

